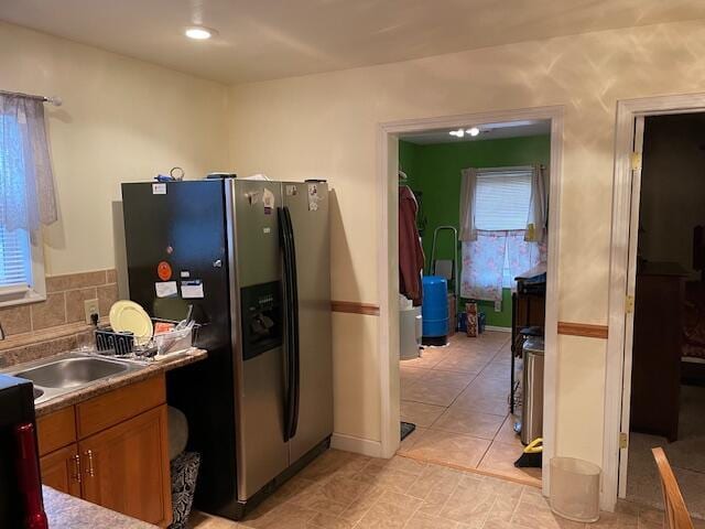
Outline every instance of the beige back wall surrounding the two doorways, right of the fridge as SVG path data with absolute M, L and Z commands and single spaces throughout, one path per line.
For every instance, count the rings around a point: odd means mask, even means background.
M 704 74 L 705 24 L 692 22 L 243 85 L 231 89 L 230 163 L 274 179 L 328 179 L 333 295 L 377 302 L 377 125 L 563 105 L 558 315 L 607 324 L 616 101 L 703 91 Z M 335 328 L 335 360 L 377 380 L 378 350 L 360 325 Z M 558 347 L 557 452 L 600 464 L 606 343 L 563 336 Z M 367 391 L 336 392 L 336 431 L 379 439 L 361 418 L 379 408 L 358 406 Z

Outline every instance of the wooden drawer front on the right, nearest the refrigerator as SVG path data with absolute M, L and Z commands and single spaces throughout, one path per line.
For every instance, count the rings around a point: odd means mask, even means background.
M 116 389 L 76 406 L 78 439 L 127 421 L 166 401 L 164 375 Z

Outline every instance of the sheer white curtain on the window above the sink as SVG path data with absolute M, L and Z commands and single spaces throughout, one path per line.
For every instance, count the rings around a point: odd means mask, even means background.
M 31 231 L 56 218 L 44 104 L 0 95 L 0 226 Z

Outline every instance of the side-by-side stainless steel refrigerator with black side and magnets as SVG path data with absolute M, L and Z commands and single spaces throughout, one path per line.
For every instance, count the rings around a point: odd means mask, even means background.
M 167 374 L 202 454 L 196 507 L 239 519 L 329 445 L 328 187 L 323 181 L 122 184 L 130 298 L 189 305 L 208 359 Z

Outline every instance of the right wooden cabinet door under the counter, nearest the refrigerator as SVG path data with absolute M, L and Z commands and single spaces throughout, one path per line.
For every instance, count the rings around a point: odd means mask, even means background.
M 140 520 L 172 519 L 166 406 L 79 442 L 84 499 Z

